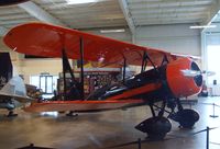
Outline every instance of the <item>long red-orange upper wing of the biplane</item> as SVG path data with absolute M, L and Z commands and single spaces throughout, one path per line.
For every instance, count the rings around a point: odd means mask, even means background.
M 141 65 L 144 51 L 155 66 L 162 64 L 164 56 L 169 61 L 176 59 L 176 56 L 158 49 L 43 23 L 12 28 L 4 36 L 4 43 L 11 49 L 28 55 L 62 57 L 62 49 L 65 49 L 68 58 L 80 59 L 80 38 L 84 41 L 85 60 L 123 64 L 125 58 L 128 65 Z

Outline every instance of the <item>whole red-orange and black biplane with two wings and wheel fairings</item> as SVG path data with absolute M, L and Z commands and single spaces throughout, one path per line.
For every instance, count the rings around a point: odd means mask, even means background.
M 196 94 L 201 90 L 200 69 L 190 58 L 43 23 L 29 23 L 12 28 L 4 36 L 4 43 L 18 53 L 61 57 L 64 80 L 65 72 L 72 74 L 74 98 L 69 99 L 65 92 L 63 101 L 33 103 L 25 111 L 98 112 L 147 104 L 152 117 L 135 128 L 146 133 L 150 138 L 165 137 L 172 127 L 168 118 L 187 128 L 193 127 L 199 119 L 196 111 L 184 108 L 179 101 L 180 98 Z M 80 81 L 76 80 L 68 58 L 80 60 Z M 103 66 L 121 65 L 123 79 L 119 83 L 98 89 L 85 98 L 84 60 L 99 61 Z M 141 72 L 125 79 L 127 65 L 141 66 Z M 152 69 L 145 70 L 147 66 Z M 65 81 L 64 89 L 66 89 Z M 160 101 L 162 106 L 158 107 L 155 103 Z M 155 107 L 160 108 L 158 113 L 155 112 Z M 168 118 L 164 116 L 165 112 L 169 113 Z

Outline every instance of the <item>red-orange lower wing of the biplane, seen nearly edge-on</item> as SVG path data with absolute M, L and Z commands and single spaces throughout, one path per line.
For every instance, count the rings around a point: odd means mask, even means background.
M 32 103 L 24 107 L 25 112 L 55 112 L 55 111 L 74 111 L 74 112 L 100 112 L 119 108 L 128 108 L 144 105 L 143 100 L 116 100 L 116 101 L 50 101 L 42 103 Z

